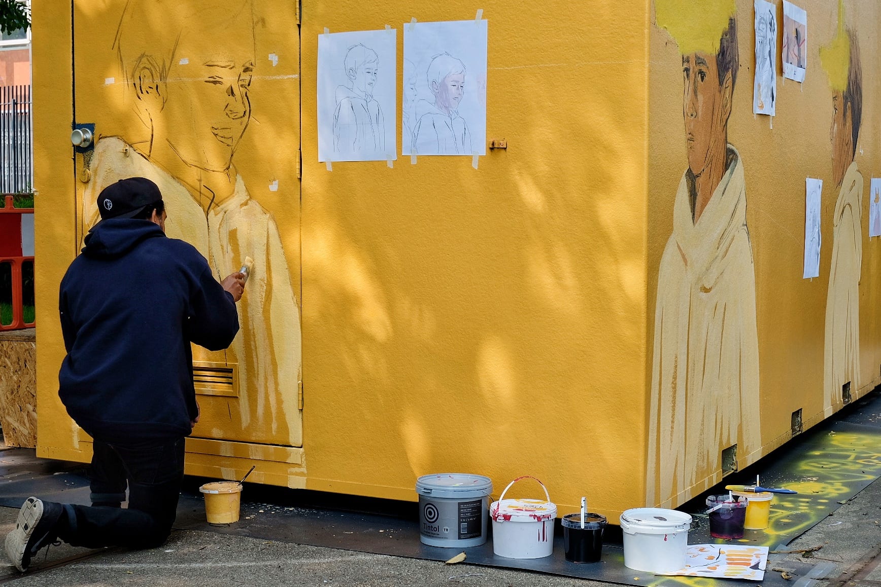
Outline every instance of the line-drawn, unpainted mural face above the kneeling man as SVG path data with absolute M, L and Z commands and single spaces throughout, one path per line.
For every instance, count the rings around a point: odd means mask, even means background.
M 203 34 L 184 30 L 175 53 L 195 58 L 188 57 L 187 69 L 181 65 L 172 69 L 159 113 L 172 150 L 186 164 L 206 171 L 229 169 L 251 118 L 253 34 L 250 23 L 233 28 L 240 30 L 228 31 L 229 38 L 243 42 L 223 48 L 199 47 Z

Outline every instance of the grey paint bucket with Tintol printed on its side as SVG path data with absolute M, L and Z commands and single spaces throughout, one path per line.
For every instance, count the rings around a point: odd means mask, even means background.
M 492 480 L 468 473 L 423 475 L 419 495 L 419 540 L 430 547 L 478 547 L 486 542 Z

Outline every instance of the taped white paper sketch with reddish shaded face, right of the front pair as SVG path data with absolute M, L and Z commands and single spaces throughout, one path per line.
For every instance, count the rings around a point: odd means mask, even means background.
M 486 154 L 486 40 L 485 20 L 404 25 L 404 155 Z

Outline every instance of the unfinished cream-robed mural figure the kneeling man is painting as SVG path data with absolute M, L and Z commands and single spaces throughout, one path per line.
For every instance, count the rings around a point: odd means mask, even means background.
M 195 246 L 213 275 L 228 275 L 247 257 L 254 260 L 248 290 L 237 305 L 240 330 L 233 343 L 223 351 L 193 346 L 196 369 L 232 369 L 238 385 L 232 403 L 196 385 L 203 418 L 195 434 L 299 446 L 299 271 L 288 266 L 275 216 L 252 198 L 233 164 L 251 117 L 249 93 L 260 40 L 255 8 L 251 0 L 121 4 L 125 9 L 114 48 L 132 116 L 115 127 L 97 121 L 106 134 L 95 145 L 83 225 L 95 224 L 101 189 L 142 176 L 162 192 L 170 213 L 164 221 L 167 236 Z M 279 43 L 278 54 L 299 57 L 296 36 L 290 45 Z M 262 95 L 278 109 L 289 94 L 274 81 L 277 77 L 256 79 L 267 80 Z

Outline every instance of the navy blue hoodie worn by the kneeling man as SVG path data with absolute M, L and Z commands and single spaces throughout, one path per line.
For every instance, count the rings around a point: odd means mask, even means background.
M 190 341 L 226 349 L 233 296 L 193 246 L 147 220 L 110 218 L 61 282 L 64 407 L 105 442 L 188 436 L 196 417 Z

